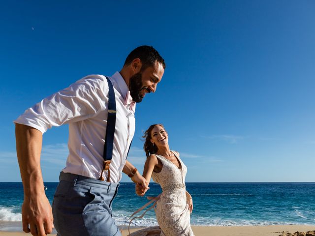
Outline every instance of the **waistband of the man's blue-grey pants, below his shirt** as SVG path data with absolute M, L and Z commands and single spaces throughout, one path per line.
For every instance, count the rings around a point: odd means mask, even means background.
M 106 189 L 107 191 L 115 191 L 116 188 L 120 185 L 119 183 L 111 183 L 111 182 L 106 182 L 102 180 L 98 180 L 95 178 L 90 178 L 86 176 L 80 176 L 80 175 L 75 175 L 71 173 L 60 173 L 59 177 L 60 181 L 67 181 L 67 182 L 72 182 L 74 185 L 76 184 L 82 184 L 82 185 L 88 185 L 96 188 L 103 188 Z

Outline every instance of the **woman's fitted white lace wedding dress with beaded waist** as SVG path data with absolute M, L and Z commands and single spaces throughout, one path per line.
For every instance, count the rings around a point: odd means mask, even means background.
M 163 190 L 155 207 L 159 228 L 145 228 L 130 236 L 193 236 L 190 227 L 190 212 L 186 202 L 187 167 L 177 153 L 172 152 L 180 161 L 181 169 L 165 157 L 155 154 L 163 164 L 159 173 L 152 173 L 152 179 Z

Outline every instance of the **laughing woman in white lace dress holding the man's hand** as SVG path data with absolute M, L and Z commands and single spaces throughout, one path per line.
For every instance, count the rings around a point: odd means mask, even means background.
M 151 125 L 143 138 L 145 138 L 144 150 L 147 156 L 143 177 L 148 182 L 152 177 L 163 190 L 155 207 L 160 227 L 159 235 L 193 236 L 190 227 L 192 198 L 185 186 L 187 167 L 179 158 L 179 153 L 170 150 L 168 135 L 162 124 Z M 137 193 L 139 194 L 139 191 Z M 146 228 L 132 233 L 131 236 L 153 235 L 156 229 L 156 227 Z

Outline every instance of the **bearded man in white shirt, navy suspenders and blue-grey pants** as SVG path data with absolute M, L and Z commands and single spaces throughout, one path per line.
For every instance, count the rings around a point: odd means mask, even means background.
M 135 102 L 156 91 L 164 69 L 164 59 L 153 47 L 140 46 L 112 77 L 84 77 L 43 99 L 14 121 L 24 187 L 24 232 L 44 236 L 55 225 L 59 236 L 121 235 L 112 219 L 111 204 L 122 172 L 138 183 L 138 192 L 148 189 L 146 180 L 126 161 L 135 129 Z M 109 109 L 113 100 L 116 112 Z M 116 114 L 114 125 L 110 125 L 112 114 Z M 69 124 L 69 155 L 52 210 L 40 169 L 42 134 L 65 123 Z M 113 130 L 112 141 L 107 136 L 109 129 Z M 112 146 L 109 164 L 104 143 Z

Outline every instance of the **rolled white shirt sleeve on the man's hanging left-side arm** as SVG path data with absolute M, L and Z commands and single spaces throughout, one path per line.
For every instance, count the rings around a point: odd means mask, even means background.
M 44 98 L 14 120 L 45 133 L 52 126 L 92 118 L 106 109 L 108 83 L 99 75 L 90 75 Z

